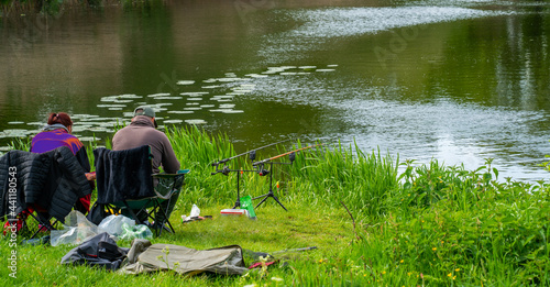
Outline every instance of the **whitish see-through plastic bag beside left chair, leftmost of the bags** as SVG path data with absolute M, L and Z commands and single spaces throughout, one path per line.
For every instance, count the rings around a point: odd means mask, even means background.
M 73 210 L 65 218 L 65 224 L 62 230 L 52 230 L 51 243 L 52 246 L 59 244 L 80 244 L 88 238 L 98 234 L 98 227 L 80 213 Z

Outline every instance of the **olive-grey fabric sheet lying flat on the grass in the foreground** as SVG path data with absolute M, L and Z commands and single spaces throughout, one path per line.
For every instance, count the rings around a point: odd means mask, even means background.
M 128 253 L 128 265 L 119 272 L 140 274 L 169 268 L 185 275 L 202 272 L 242 275 L 249 271 L 242 254 L 239 245 L 199 251 L 173 244 L 151 245 L 147 240 L 134 240 Z

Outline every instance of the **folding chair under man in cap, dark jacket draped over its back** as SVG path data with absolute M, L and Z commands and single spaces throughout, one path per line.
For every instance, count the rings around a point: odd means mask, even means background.
M 124 151 L 100 147 L 94 151 L 94 156 L 97 205 L 103 205 L 110 213 L 121 210 L 138 224 L 154 220 L 154 225 L 158 227 L 155 230 L 157 235 L 162 234 L 165 224 L 169 232 L 175 232 L 168 219 L 169 210 L 163 203 L 170 206 L 174 195 L 180 192 L 189 169 L 178 170 L 177 174 L 152 174 L 152 154 L 147 145 Z M 156 187 L 155 180 L 158 181 Z

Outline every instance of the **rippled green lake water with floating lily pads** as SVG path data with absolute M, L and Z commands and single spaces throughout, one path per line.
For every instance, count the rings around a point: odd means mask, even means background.
M 84 141 L 151 104 L 161 129 L 286 136 L 540 180 L 550 3 L 196 1 L 3 16 L 0 145 L 67 111 Z M 4 148 L 6 150 L 6 148 Z

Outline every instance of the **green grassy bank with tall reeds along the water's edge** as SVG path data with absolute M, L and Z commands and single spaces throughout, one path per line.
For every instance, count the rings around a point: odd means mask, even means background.
M 317 249 L 287 254 L 278 264 L 245 276 L 183 277 L 62 266 L 61 257 L 72 246 L 19 244 L 18 278 L 10 278 L 2 267 L 3 285 L 550 285 L 550 186 L 496 180 L 498 170 L 491 159 L 476 170 L 465 170 L 437 161 L 402 163 L 354 145 L 317 146 L 299 152 L 293 165 L 274 168 L 278 187 L 273 188 L 288 211 L 268 199 L 256 208 L 253 221 L 219 216 L 220 209 L 235 202 L 237 177 L 212 176 L 211 163 L 235 154 L 230 140 L 196 128 L 168 129 L 167 134 L 182 166 L 191 173 L 172 216 L 176 233 L 155 238 L 154 243 L 198 250 L 238 244 L 271 253 Z M 14 147 L 25 144 L 18 142 Z M 290 148 L 300 146 L 298 142 Z M 230 167 L 251 168 L 245 156 L 230 162 Z M 260 196 L 270 188 L 267 177 L 255 173 L 244 173 L 240 184 L 241 196 Z M 189 214 L 193 203 L 201 216 L 213 219 L 183 224 L 179 218 Z M 7 257 L 12 249 L 7 239 L 0 243 L 1 256 Z M 120 244 L 128 247 L 130 242 Z

